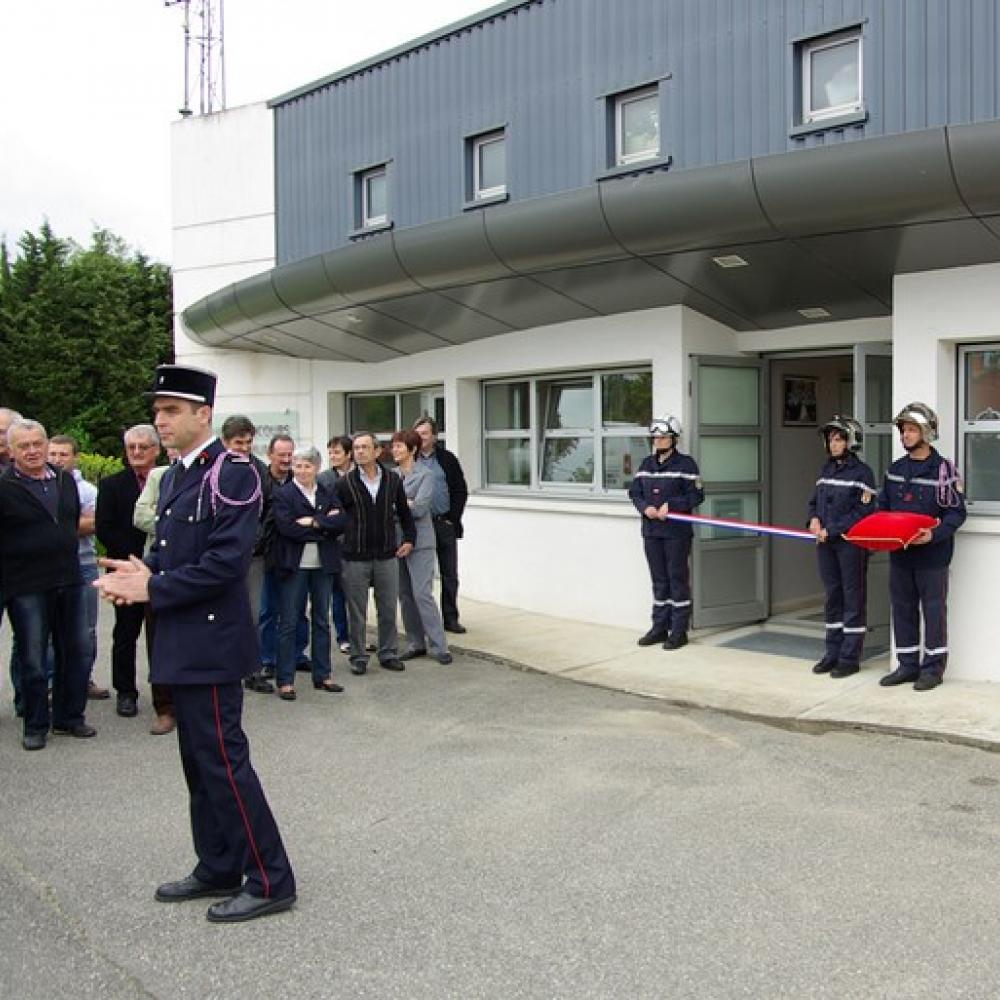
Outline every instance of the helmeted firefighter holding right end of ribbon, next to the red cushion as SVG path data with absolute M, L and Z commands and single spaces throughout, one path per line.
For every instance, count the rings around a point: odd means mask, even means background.
M 816 536 L 819 576 L 826 591 L 826 650 L 814 674 L 850 677 L 861 669 L 865 641 L 868 553 L 844 535 L 875 509 L 875 474 L 858 458 L 863 431 L 851 417 L 835 416 L 820 428 L 829 461 L 809 500 L 809 530 Z

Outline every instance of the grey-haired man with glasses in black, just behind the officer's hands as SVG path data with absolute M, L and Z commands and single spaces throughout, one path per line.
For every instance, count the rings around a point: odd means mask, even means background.
M 126 468 L 106 476 L 97 488 L 97 538 L 111 559 L 142 558 L 146 535 L 132 523 L 135 502 L 160 455 L 160 438 L 152 424 L 136 424 L 125 432 Z M 144 604 L 115 605 L 111 635 L 111 682 L 117 693 L 117 712 L 125 718 L 139 714 L 136 686 L 136 645 L 142 631 Z M 147 646 L 149 630 L 146 631 Z M 153 686 L 157 716 L 171 715 L 169 688 Z

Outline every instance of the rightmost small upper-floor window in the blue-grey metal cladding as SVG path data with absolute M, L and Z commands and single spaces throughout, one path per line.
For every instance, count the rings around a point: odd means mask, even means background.
M 803 124 L 863 109 L 860 28 L 802 42 L 799 51 Z

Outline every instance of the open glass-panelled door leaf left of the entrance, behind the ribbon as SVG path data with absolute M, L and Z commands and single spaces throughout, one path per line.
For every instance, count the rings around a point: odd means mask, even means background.
M 705 485 L 698 513 L 766 520 L 766 362 L 694 357 L 691 364 L 691 452 Z M 695 628 L 767 617 L 768 548 L 762 536 L 696 527 L 692 557 Z

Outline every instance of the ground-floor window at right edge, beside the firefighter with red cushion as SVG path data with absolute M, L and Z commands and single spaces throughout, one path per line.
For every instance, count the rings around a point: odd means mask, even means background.
M 969 509 L 1000 514 L 1000 344 L 963 347 L 959 470 Z

